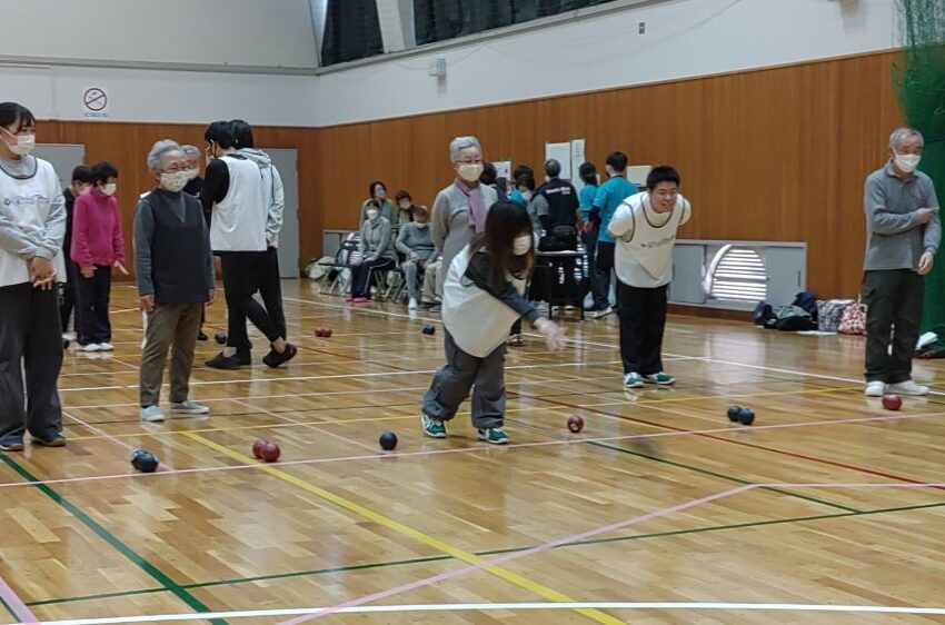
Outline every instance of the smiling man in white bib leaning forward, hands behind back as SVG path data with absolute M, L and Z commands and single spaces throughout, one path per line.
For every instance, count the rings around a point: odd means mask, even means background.
M 690 215 L 689 201 L 679 194 L 679 172 L 662 166 L 647 176 L 646 191 L 625 199 L 610 220 L 624 388 L 676 381 L 663 370 L 663 333 L 676 232 Z

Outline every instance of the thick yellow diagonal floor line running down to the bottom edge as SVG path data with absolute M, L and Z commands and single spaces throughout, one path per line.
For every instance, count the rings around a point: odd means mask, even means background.
M 219 445 L 217 443 L 213 443 L 212 440 L 209 440 L 209 439 L 200 436 L 199 434 L 186 433 L 186 436 L 188 438 L 206 446 L 206 447 L 209 447 L 210 449 L 213 449 L 215 452 L 223 454 L 225 456 L 229 456 L 230 458 L 237 460 L 240 464 L 253 464 L 253 463 L 257 462 L 257 460 L 253 460 L 252 458 L 250 458 L 248 456 L 243 456 L 242 454 L 240 454 L 238 452 L 233 452 L 229 447 L 225 447 L 223 445 Z M 378 525 L 382 525 L 384 527 L 387 527 L 388 529 L 392 529 L 394 532 L 402 534 L 404 536 L 408 536 L 410 538 L 414 538 L 415 540 L 418 540 L 418 542 L 422 543 L 424 545 L 427 545 L 428 547 L 437 549 L 438 552 L 450 555 L 450 556 L 455 557 L 456 559 L 462 560 L 467 564 L 481 564 L 481 563 L 485 562 L 485 559 L 480 558 L 479 556 L 476 556 L 474 554 L 465 552 L 465 550 L 462 550 L 458 547 L 454 547 L 452 545 L 445 543 L 445 542 L 440 540 L 439 538 L 430 536 L 429 534 L 424 534 L 422 532 L 420 532 L 418 529 L 414 529 L 412 527 L 409 527 L 407 525 L 404 525 L 402 523 L 394 520 L 392 518 L 387 517 L 387 516 L 385 516 L 380 513 L 377 513 L 377 512 L 375 512 L 370 508 L 366 508 L 365 506 L 357 504 L 355 502 L 351 502 L 350 499 L 346 499 L 345 497 L 341 497 L 340 495 L 336 495 L 335 493 L 326 490 L 325 488 L 320 488 L 320 487 L 318 487 L 318 486 L 316 486 L 316 485 L 314 485 L 309 482 L 306 482 L 305 479 L 301 479 L 301 478 L 296 477 L 294 475 L 289 475 L 281 469 L 278 469 L 278 468 L 272 467 L 272 466 L 263 465 L 261 470 L 265 470 L 266 473 L 268 473 L 269 475 L 271 475 L 273 477 L 278 477 L 282 482 L 291 484 L 292 486 L 296 486 L 297 488 L 301 488 L 306 493 L 315 495 L 316 497 L 325 499 L 326 502 L 330 502 L 330 503 L 335 504 L 336 506 L 339 506 L 341 508 L 345 508 L 346 510 L 352 512 L 352 513 L 355 513 L 355 514 L 357 514 L 357 515 L 359 515 L 359 516 L 361 516 L 361 517 L 364 517 L 364 518 L 366 518 L 366 519 L 368 519 L 372 523 L 376 523 Z M 500 567 L 500 566 L 486 565 L 486 566 L 483 567 L 483 571 L 487 571 L 487 572 L 491 573 L 493 575 L 495 575 L 496 577 L 505 579 L 506 582 L 510 582 L 511 584 L 515 584 L 516 586 L 519 586 L 520 588 L 525 588 L 526 591 L 529 591 L 529 592 L 538 595 L 539 597 L 544 597 L 544 598 L 551 601 L 551 602 L 567 603 L 567 602 L 574 602 L 575 601 L 575 599 L 568 597 L 567 595 L 559 593 L 558 591 L 554 591 L 554 589 L 551 589 L 547 586 L 544 586 L 544 585 L 541 585 L 537 582 L 533 582 L 531 579 L 528 579 L 527 577 L 518 575 L 517 573 L 513 573 L 511 571 L 508 571 L 506 568 Z M 583 614 L 584 616 L 587 616 L 588 618 L 591 618 L 593 621 L 596 621 L 598 623 L 606 623 L 608 625 L 623 625 L 624 624 L 624 622 L 620 621 L 619 618 L 614 618 L 613 616 L 605 614 L 605 613 L 600 612 L 599 609 L 580 608 L 580 609 L 576 609 L 576 612 L 578 612 L 578 613 Z

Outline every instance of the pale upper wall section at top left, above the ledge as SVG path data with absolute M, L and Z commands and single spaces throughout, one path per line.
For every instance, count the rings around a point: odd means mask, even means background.
M 309 0 L 4 0 L 0 58 L 316 67 Z

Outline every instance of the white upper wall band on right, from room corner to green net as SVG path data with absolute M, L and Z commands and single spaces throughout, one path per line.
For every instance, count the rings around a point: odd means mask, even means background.
M 666 0 L 319 76 L 317 126 L 896 47 L 894 0 Z M 639 34 L 639 22 L 646 33 Z M 427 75 L 447 59 L 447 78 Z

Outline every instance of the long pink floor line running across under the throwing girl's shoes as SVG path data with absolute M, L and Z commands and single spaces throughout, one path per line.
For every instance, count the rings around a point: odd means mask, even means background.
M 871 421 L 889 421 L 889 420 L 903 420 L 903 419 L 918 419 L 918 418 L 927 418 L 927 417 L 941 417 L 945 416 L 945 413 L 926 413 L 919 415 L 895 415 L 888 417 L 863 417 L 857 419 L 830 419 L 823 421 L 807 421 L 807 423 L 793 423 L 793 424 L 779 424 L 779 425 L 766 425 L 766 426 L 753 426 L 750 428 L 746 427 L 724 427 L 724 428 L 713 428 L 713 429 L 696 429 L 696 430 L 686 430 L 686 431 L 656 431 L 651 434 L 627 434 L 621 436 L 604 436 L 604 437 L 595 437 L 595 438 L 570 438 L 567 440 L 539 440 L 535 443 L 513 443 L 505 446 L 505 449 L 515 449 L 515 448 L 524 448 L 524 447 L 548 447 L 554 445 L 573 445 L 576 443 L 614 443 L 619 440 L 634 440 L 640 438 L 665 438 L 665 437 L 674 437 L 674 436 L 688 436 L 688 435 L 697 435 L 697 434 L 724 434 L 724 433 L 733 433 L 733 431 L 756 431 L 763 429 L 785 429 L 785 428 L 794 428 L 794 427 L 815 427 L 815 426 L 825 426 L 825 425 L 847 425 L 847 424 L 857 424 L 857 423 L 871 423 Z M 339 423 L 337 425 L 344 425 L 344 423 Z M 645 427 L 655 427 L 655 426 L 645 426 Z M 462 447 L 457 449 L 428 449 L 425 452 L 397 452 L 395 454 L 367 454 L 360 456 L 337 456 L 331 458 L 309 458 L 304 460 L 286 460 L 280 462 L 281 466 L 294 466 L 294 465 L 316 465 L 324 463 L 342 463 L 342 462 L 354 462 L 354 460 L 370 460 L 376 458 L 390 458 L 390 457 L 414 457 L 414 456 L 435 456 L 442 454 L 465 454 L 465 453 L 474 453 L 474 452 L 486 452 L 486 450 L 495 450 L 494 446 L 479 445 L 475 447 Z M 19 486 L 36 486 L 36 485 L 52 485 L 52 484 L 71 484 L 79 482 L 100 482 L 106 479 L 123 479 L 127 477 L 149 477 L 153 475 L 186 475 L 192 473 L 212 473 L 218 470 L 238 470 L 238 469 L 258 469 L 262 465 L 251 464 L 251 465 L 231 465 L 225 467 L 198 467 L 198 468 L 189 468 L 189 469 L 171 469 L 171 470 L 162 470 L 158 474 L 111 474 L 111 475 L 100 475 L 100 476 L 91 476 L 91 477 L 66 477 L 59 479 L 42 479 L 36 482 L 9 482 L 9 483 L 0 483 L 0 488 L 14 488 Z

